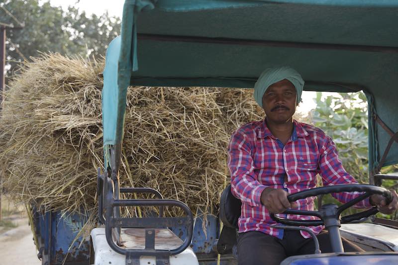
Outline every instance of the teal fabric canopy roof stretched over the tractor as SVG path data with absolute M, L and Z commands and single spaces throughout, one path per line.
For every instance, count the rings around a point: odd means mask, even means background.
M 126 0 L 106 54 L 104 146 L 121 142 L 128 85 L 253 88 L 282 65 L 305 90 L 364 90 L 395 132 L 397 25 L 398 0 Z M 390 135 L 369 122 L 373 168 Z M 385 165 L 398 162 L 396 145 Z

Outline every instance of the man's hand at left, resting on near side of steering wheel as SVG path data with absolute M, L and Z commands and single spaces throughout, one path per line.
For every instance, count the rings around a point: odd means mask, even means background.
M 282 188 L 265 188 L 261 193 L 261 203 L 270 213 L 282 213 L 288 208 L 296 208 L 296 202 L 289 202 L 289 193 Z

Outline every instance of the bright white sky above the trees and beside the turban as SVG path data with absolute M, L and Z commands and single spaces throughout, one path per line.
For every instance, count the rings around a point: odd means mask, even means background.
M 87 14 L 95 13 L 101 15 L 108 11 L 110 15 L 122 16 L 124 0 L 50 0 L 53 6 L 62 6 L 66 9 L 69 5 L 77 6 L 79 9 L 86 11 Z M 315 92 L 303 91 L 302 103 L 297 108 L 298 112 L 304 115 L 314 109 L 316 104 L 312 98 L 316 96 Z

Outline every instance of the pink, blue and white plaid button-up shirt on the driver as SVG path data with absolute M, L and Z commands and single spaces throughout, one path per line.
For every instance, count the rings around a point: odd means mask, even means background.
M 283 230 L 271 228 L 276 224 L 271 219 L 260 197 L 266 187 L 283 188 L 288 193 L 316 187 L 316 175 L 322 177 L 323 185 L 357 183 L 343 168 L 338 159 L 332 139 L 314 126 L 294 121 L 291 139 L 283 143 L 272 135 L 265 119 L 249 122 L 238 128 L 228 147 L 228 167 L 231 173 L 231 191 L 242 201 L 238 221 L 239 233 L 261 231 L 283 238 Z M 362 194 L 341 192 L 332 194 L 345 203 Z M 297 201 L 300 210 L 314 210 L 314 198 Z M 369 199 L 356 207 L 370 208 Z M 313 216 L 280 214 L 290 219 L 317 219 Z M 323 226 L 309 227 L 319 233 Z M 304 238 L 309 234 L 301 231 Z

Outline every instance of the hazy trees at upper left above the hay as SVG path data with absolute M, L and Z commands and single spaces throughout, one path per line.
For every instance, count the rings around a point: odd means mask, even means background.
M 108 43 L 120 31 L 120 19 L 107 13 L 87 16 L 76 7 L 64 11 L 48 1 L 40 4 L 39 0 L 5 0 L 2 6 L 25 25 L 21 29 L 7 29 L 8 76 L 18 63 L 40 52 L 104 56 Z M 15 25 L 2 9 L 0 22 Z

